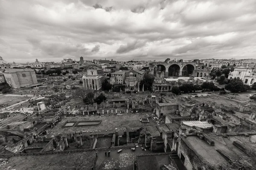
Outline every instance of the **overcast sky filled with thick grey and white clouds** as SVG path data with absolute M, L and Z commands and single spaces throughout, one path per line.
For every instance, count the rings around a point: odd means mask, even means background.
M 0 0 L 0 56 L 256 58 L 256 0 Z

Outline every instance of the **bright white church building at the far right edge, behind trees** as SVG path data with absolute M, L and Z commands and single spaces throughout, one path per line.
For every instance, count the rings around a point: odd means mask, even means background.
M 228 78 L 239 78 L 241 79 L 244 84 L 246 85 L 252 85 L 254 82 L 256 82 L 256 70 L 254 67 L 246 67 L 244 65 L 239 65 L 234 68 L 234 71 L 230 72 Z

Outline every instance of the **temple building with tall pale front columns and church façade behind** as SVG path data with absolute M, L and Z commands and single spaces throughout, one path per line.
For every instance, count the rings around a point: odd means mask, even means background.
M 83 86 L 86 89 L 99 90 L 102 88 L 102 82 L 105 79 L 103 69 L 95 66 L 89 66 L 87 68 L 87 75 L 82 77 Z

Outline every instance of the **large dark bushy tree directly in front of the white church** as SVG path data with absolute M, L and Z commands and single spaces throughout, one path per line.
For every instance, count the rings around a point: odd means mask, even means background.
M 225 86 L 225 89 L 232 93 L 237 93 L 250 90 L 250 86 L 248 87 L 248 85 L 244 85 L 244 82 L 241 79 L 234 78 Z

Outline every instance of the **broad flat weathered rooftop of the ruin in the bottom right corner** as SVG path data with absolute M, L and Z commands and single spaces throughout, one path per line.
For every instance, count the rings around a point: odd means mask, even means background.
M 221 154 L 217 151 L 220 150 L 221 152 L 225 153 L 228 157 L 232 158 L 233 160 L 243 161 L 244 159 L 248 158 L 247 155 L 236 147 L 233 142 L 238 141 L 244 144 L 246 147 L 255 148 L 255 136 L 230 136 L 230 137 L 223 137 L 217 136 L 215 134 L 207 134 L 211 140 L 214 141 L 214 145 L 209 145 L 205 140 L 200 139 L 198 136 L 187 136 L 182 140 L 186 143 L 186 145 L 195 151 L 196 155 L 202 160 L 207 162 L 212 167 L 216 167 L 216 169 L 221 167 L 228 167 L 230 166 L 227 159 L 225 159 Z M 254 149 L 252 149 L 253 151 Z M 248 161 L 250 159 L 248 158 Z M 224 168 L 225 169 L 225 168 Z

